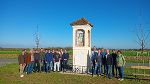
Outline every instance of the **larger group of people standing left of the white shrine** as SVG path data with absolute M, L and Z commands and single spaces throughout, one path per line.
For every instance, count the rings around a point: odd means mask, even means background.
M 43 49 L 27 52 L 22 50 L 22 54 L 18 56 L 20 77 L 23 73 L 31 74 L 32 72 L 51 72 L 67 70 L 67 62 L 69 53 L 66 50 L 50 50 Z

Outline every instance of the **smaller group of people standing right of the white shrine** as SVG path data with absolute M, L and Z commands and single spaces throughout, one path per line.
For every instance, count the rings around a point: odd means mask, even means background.
M 106 76 L 106 78 L 116 77 L 118 80 L 124 80 L 125 58 L 120 50 L 98 49 L 94 46 L 92 51 L 92 76 Z

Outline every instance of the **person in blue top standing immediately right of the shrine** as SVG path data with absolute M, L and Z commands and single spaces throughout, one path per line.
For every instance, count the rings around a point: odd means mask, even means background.
M 94 76 L 95 72 L 96 72 L 96 57 L 97 57 L 97 51 L 96 51 L 96 47 L 93 47 L 93 51 L 92 51 L 92 57 L 91 57 L 91 61 L 92 61 L 92 77 Z

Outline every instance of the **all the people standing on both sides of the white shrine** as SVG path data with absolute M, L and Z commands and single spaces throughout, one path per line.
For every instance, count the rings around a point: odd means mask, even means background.
M 30 74 L 32 72 L 51 72 L 67 70 L 67 62 L 69 54 L 66 50 L 50 50 L 43 49 L 27 52 L 22 50 L 22 54 L 18 56 L 20 77 L 23 73 Z M 124 80 L 125 58 L 120 50 L 97 49 L 93 47 L 92 56 L 92 76 L 106 76 L 106 78 L 116 77 L 118 80 Z

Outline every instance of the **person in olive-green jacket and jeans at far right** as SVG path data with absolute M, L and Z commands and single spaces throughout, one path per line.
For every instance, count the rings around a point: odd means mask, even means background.
M 119 78 L 118 80 L 123 81 L 124 80 L 124 66 L 125 66 L 125 58 L 122 55 L 122 52 L 120 50 L 117 51 L 117 68 L 119 71 Z

